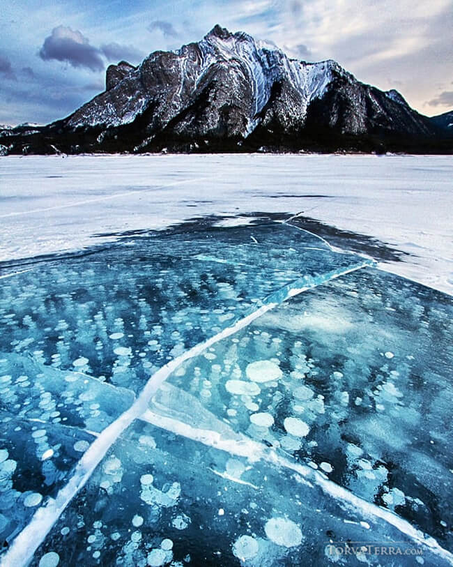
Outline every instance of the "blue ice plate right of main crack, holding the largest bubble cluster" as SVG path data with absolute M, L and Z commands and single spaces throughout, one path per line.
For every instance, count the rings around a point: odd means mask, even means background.
M 164 388 L 183 388 L 197 413 L 204 405 L 236 434 L 320 468 L 452 549 L 452 315 L 443 294 L 360 270 L 259 317 L 184 363 Z M 248 369 L 266 378 L 263 361 L 282 376 L 251 395 Z M 229 388 L 231 376 L 243 391 Z M 185 421 L 168 400 L 162 411 L 161 399 L 153 411 Z M 260 412 L 266 423 L 256 423 Z

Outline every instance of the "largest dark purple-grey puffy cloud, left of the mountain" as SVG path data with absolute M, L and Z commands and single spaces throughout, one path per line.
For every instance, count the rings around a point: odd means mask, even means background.
M 100 50 L 90 45 L 89 40 L 80 31 L 65 26 L 52 30 L 51 35 L 45 38 L 39 55 L 44 61 L 66 61 L 72 67 L 86 67 L 92 71 L 105 68 Z

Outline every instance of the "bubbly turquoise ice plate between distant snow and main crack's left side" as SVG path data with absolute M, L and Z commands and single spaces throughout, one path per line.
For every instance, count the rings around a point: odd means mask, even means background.
M 132 238 L 4 280 L 0 349 L 137 391 L 260 305 L 364 262 L 282 223 Z

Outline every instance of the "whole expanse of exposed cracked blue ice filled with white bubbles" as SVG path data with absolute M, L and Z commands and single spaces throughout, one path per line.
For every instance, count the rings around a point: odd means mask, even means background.
M 2 280 L 2 567 L 453 564 L 451 298 L 215 224 Z

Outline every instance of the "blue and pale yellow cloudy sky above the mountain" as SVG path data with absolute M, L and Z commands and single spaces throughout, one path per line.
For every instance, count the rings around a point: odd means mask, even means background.
M 0 0 L 0 124 L 49 123 L 105 88 L 105 69 L 220 24 L 305 61 L 335 59 L 422 114 L 453 109 L 451 0 Z

